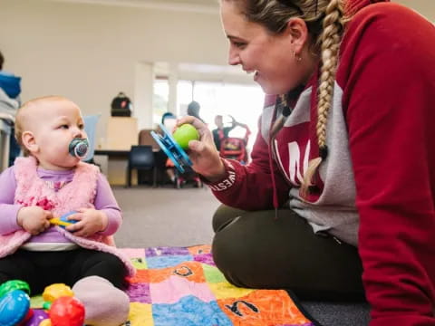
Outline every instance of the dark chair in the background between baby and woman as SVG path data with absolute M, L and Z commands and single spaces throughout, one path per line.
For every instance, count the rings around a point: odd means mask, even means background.
M 154 163 L 154 153 L 152 146 L 140 145 L 131 146 L 129 154 L 129 164 L 127 166 L 127 187 L 131 187 L 131 170 L 148 170 L 152 172 L 152 187 L 156 187 L 157 168 Z

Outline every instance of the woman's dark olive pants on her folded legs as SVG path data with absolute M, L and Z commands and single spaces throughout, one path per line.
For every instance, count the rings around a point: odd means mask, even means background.
M 363 300 L 362 264 L 353 245 L 314 235 L 295 212 L 245 212 L 220 206 L 213 257 L 239 287 L 286 289 L 303 300 Z

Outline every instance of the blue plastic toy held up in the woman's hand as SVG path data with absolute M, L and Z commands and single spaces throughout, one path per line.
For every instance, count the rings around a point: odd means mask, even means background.
M 170 132 L 161 123 L 160 129 L 163 131 L 163 136 L 160 136 L 157 132 L 151 131 L 152 138 L 156 140 L 160 149 L 163 149 L 168 158 L 174 163 L 175 168 L 177 168 L 180 173 L 184 173 L 184 167 L 192 166 L 192 161 L 184 149 L 181 149 Z

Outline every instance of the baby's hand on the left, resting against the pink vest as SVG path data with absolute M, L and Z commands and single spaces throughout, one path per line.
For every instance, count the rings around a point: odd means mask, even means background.
M 20 208 L 16 222 L 31 235 L 39 235 L 50 227 L 48 220 L 52 217 L 52 212 L 43 210 L 39 206 L 27 206 Z

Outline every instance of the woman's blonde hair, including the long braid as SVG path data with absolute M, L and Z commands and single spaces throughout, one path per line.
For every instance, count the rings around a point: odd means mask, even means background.
M 316 134 L 319 146 L 317 158 L 310 160 L 301 186 L 303 196 L 313 185 L 312 180 L 320 164 L 327 156 L 326 122 L 333 101 L 333 86 L 338 64 L 340 43 L 344 25 L 349 17 L 344 16 L 343 0 L 222 0 L 233 2 L 247 21 L 262 24 L 272 34 L 285 30 L 288 21 L 299 17 L 307 25 L 313 37 L 312 51 L 321 58 L 321 75 L 318 88 Z M 280 95 L 286 105 L 286 95 Z M 285 117 L 280 117 L 271 129 L 271 135 L 284 126 Z

